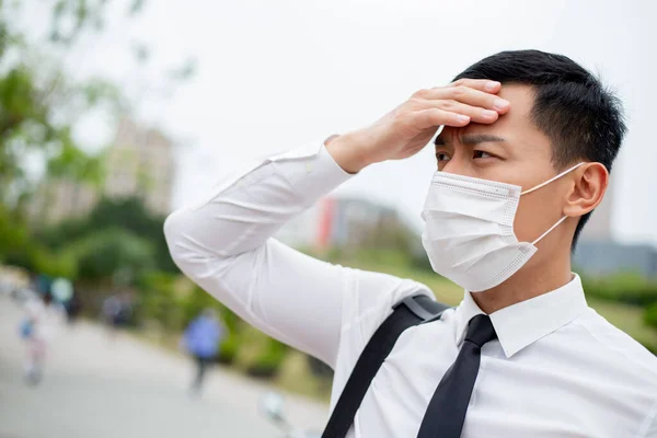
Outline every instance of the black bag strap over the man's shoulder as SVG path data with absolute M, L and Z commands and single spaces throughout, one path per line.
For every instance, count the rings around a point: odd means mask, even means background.
M 344 438 L 347 435 L 372 379 L 392 351 L 400 335 L 411 326 L 439 320 L 448 308 L 425 295 L 405 298 L 394 306 L 394 311 L 383 321 L 362 349 L 322 438 Z

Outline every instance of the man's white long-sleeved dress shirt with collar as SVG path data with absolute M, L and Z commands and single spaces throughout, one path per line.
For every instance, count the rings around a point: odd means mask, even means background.
M 266 334 L 335 370 L 333 407 L 370 336 L 401 299 L 431 291 L 332 265 L 272 238 L 353 175 L 322 141 L 254 163 L 200 205 L 172 214 L 172 256 L 200 287 Z M 417 436 L 466 324 L 470 293 L 440 321 L 408 328 L 379 370 L 349 437 Z M 462 437 L 657 437 L 657 358 L 590 309 L 579 277 L 491 314 Z

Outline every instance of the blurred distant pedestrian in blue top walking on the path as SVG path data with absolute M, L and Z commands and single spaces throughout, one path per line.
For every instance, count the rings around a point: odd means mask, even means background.
M 196 376 L 191 388 L 195 394 L 200 392 L 207 367 L 217 357 L 224 332 L 226 327 L 214 309 L 204 310 L 185 330 L 183 344 L 196 362 Z

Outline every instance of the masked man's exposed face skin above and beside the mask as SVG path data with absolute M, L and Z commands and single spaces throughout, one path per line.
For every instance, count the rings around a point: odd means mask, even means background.
M 552 146 L 531 122 L 530 87 L 503 85 L 498 94 L 510 102 L 510 110 L 494 124 L 442 130 L 436 146 L 438 169 L 515 184 L 527 191 L 558 173 L 552 164 Z M 572 182 L 562 177 L 520 197 L 514 223 L 520 242 L 532 242 L 562 218 L 568 184 Z M 550 235 L 557 234 L 557 230 Z

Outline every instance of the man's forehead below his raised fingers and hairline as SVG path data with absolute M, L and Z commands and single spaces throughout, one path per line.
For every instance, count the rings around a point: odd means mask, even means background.
M 440 137 L 449 141 L 450 137 L 464 134 L 491 134 L 502 137 L 517 148 L 538 146 L 550 147 L 550 140 L 531 120 L 533 91 L 529 85 L 504 84 L 498 95 L 510 102 L 507 114 L 491 125 L 470 124 L 463 128 L 446 127 Z

